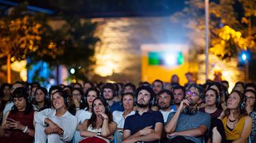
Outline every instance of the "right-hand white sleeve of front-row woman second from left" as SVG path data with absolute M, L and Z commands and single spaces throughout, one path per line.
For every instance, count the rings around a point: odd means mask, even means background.
M 60 140 L 63 142 L 69 142 L 72 140 L 75 135 L 75 131 L 77 129 L 77 118 L 70 118 L 67 123 L 62 128 L 64 130 L 63 136 L 60 136 Z

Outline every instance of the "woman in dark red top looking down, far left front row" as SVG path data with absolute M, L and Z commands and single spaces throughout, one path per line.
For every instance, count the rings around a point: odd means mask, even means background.
M 35 111 L 28 97 L 29 94 L 24 87 L 18 87 L 13 91 L 14 106 L 3 117 L 3 137 L 0 138 L 0 142 L 33 142 Z

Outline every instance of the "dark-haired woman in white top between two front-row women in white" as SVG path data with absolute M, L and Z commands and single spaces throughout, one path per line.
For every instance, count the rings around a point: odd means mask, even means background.
M 77 131 L 75 131 L 75 136 L 73 142 L 77 143 L 83 140 L 83 138 L 80 136 L 80 131 L 82 129 L 82 123 L 86 121 L 86 119 L 90 119 L 92 116 L 92 101 L 99 97 L 99 90 L 95 87 L 90 87 L 86 91 L 86 108 L 83 110 L 77 110 L 75 116 L 77 117 L 78 125 L 77 125 Z

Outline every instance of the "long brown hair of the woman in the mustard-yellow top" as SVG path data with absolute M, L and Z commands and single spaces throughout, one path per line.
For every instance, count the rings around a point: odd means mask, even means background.
M 248 115 L 248 113 L 246 112 L 246 108 L 244 108 L 244 109 L 241 109 L 240 108 L 240 106 L 241 106 L 241 104 L 245 101 L 244 100 L 244 95 L 242 94 L 242 93 L 240 93 L 240 91 L 232 91 L 229 95 L 231 95 L 232 93 L 238 93 L 238 95 L 239 95 L 239 97 L 240 97 L 240 103 L 239 103 L 239 106 L 238 106 L 238 120 L 240 120 L 240 118 L 242 117 L 242 116 L 246 116 L 246 115 Z M 246 101 L 245 101 L 246 102 Z M 230 110 L 227 108 L 226 110 L 225 110 L 225 116 L 229 116 L 229 114 L 230 114 Z

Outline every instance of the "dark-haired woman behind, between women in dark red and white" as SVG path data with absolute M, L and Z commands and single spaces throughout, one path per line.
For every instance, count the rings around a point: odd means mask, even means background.
M 51 101 L 47 98 L 47 89 L 42 86 L 39 86 L 35 91 L 35 102 L 34 104 L 38 106 L 39 110 L 44 110 L 51 108 Z

